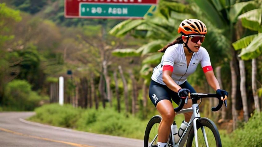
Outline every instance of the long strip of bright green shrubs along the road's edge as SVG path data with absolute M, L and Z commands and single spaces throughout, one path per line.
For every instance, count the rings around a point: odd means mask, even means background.
M 143 139 L 148 120 L 126 117 L 111 108 L 81 109 L 69 104 L 46 104 L 36 108 L 36 115 L 29 120 L 54 126 L 74 128 L 92 133 L 109 134 Z

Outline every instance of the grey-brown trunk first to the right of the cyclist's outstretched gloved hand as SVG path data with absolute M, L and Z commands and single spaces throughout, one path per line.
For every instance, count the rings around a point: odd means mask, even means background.
M 233 119 L 233 130 L 237 128 L 237 111 L 236 111 L 236 93 L 237 93 L 237 76 L 236 71 L 233 66 L 233 61 L 230 61 L 230 71 L 231 71 L 231 101 L 232 101 L 232 119 Z

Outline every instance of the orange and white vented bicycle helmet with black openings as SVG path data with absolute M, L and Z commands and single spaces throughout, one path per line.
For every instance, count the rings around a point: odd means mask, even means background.
M 185 19 L 180 23 L 177 32 L 184 35 L 205 35 L 207 29 L 205 24 L 198 19 Z

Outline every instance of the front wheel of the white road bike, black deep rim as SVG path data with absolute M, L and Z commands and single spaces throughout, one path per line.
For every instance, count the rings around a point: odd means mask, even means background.
M 206 134 L 206 139 L 204 137 Z M 203 147 L 222 147 L 218 128 L 208 118 L 200 118 L 197 120 L 197 144 Z M 187 147 L 196 147 L 194 128 L 189 132 Z

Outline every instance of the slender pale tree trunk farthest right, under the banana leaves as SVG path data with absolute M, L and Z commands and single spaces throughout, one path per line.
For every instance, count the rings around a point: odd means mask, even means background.
M 256 87 L 256 59 L 252 59 L 252 92 L 254 97 L 254 103 L 255 103 L 255 109 L 260 112 L 260 106 L 259 106 L 259 98 L 257 95 L 257 87 Z

